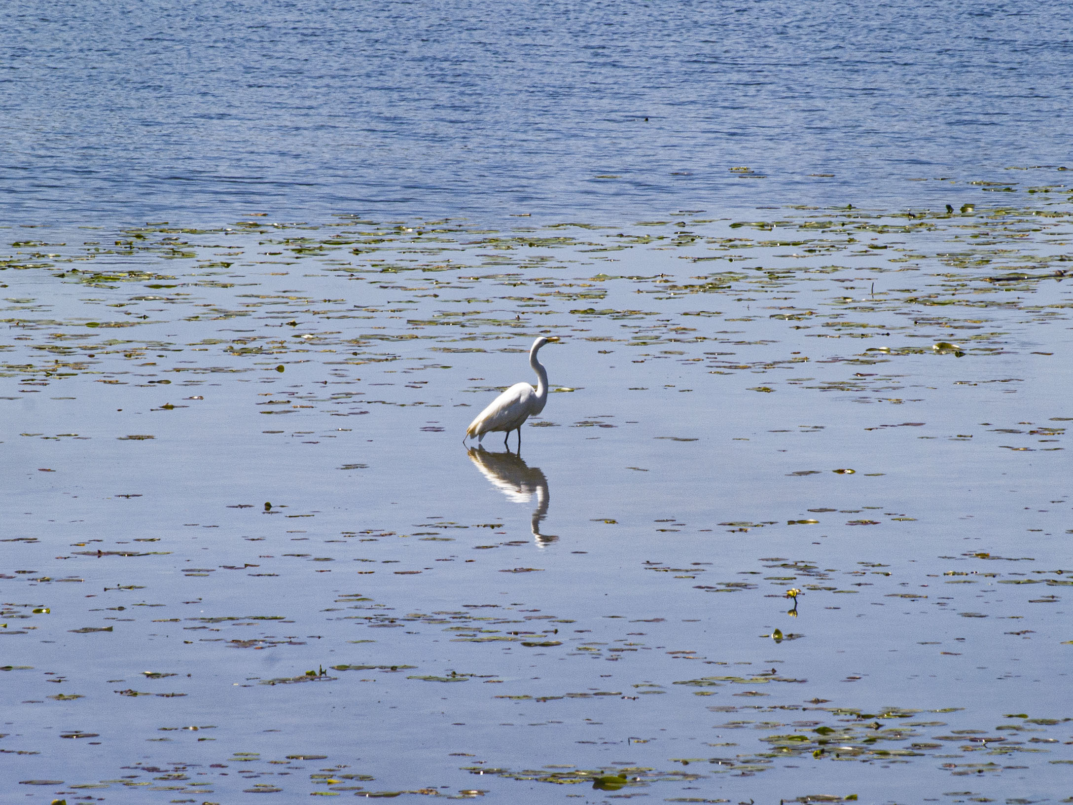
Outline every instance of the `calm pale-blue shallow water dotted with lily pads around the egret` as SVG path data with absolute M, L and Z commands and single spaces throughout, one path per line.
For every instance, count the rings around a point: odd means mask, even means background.
M 1064 795 L 1061 177 L 921 217 L 9 230 L 12 796 Z M 467 450 L 542 333 L 520 455 Z

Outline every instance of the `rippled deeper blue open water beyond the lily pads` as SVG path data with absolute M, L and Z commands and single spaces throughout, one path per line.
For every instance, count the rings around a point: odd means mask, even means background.
M 0 203 L 91 225 L 942 207 L 1070 160 L 1071 21 L 1053 1 L 16 0 Z

